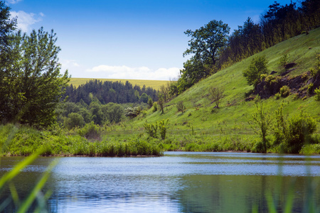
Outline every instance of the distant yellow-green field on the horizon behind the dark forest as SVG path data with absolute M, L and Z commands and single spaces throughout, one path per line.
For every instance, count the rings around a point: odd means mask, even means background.
M 90 80 L 100 80 L 102 82 L 110 81 L 110 82 L 129 82 L 132 85 L 138 85 L 140 87 L 143 87 L 146 85 L 146 87 L 152 87 L 154 89 L 159 89 L 161 85 L 166 85 L 169 81 L 164 80 L 125 80 L 125 79 L 106 79 L 106 78 L 80 78 L 80 77 L 71 77 L 70 84 L 73 84 L 73 86 L 78 87 L 81 84 L 85 84 L 86 82 Z

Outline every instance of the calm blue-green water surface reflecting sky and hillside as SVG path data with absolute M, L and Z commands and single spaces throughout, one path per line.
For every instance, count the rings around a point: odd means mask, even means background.
M 22 158 L 1 158 L 0 175 Z M 55 158 L 38 158 L 16 179 L 20 197 Z M 59 158 L 46 190 L 50 212 L 267 212 L 294 187 L 294 212 L 320 211 L 320 156 L 166 152 L 156 158 Z M 306 188 L 313 192 L 311 198 Z M 4 195 L 6 192 L 2 192 Z

